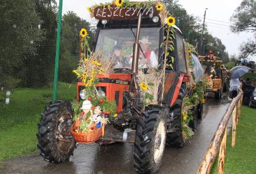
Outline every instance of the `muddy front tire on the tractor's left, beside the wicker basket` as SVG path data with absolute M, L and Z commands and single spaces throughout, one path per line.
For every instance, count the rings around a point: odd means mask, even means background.
M 38 144 L 42 157 L 49 162 L 60 163 L 73 155 L 76 142 L 70 133 L 73 111 L 70 102 L 58 100 L 41 114 L 38 124 Z

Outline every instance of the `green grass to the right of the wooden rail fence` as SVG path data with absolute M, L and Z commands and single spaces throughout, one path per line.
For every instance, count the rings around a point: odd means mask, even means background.
M 227 137 L 224 173 L 256 173 L 256 109 L 242 107 L 237 126 L 236 146 L 231 146 L 232 133 Z M 217 173 L 218 158 L 211 173 Z

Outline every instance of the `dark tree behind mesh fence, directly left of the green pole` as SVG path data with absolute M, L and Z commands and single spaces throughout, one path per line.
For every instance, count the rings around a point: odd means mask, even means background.
M 55 63 L 57 6 L 55 0 L 34 0 L 35 12 L 40 17 L 40 28 L 44 39 L 34 54 L 27 54 L 22 76 L 23 86 L 40 87 L 52 82 Z

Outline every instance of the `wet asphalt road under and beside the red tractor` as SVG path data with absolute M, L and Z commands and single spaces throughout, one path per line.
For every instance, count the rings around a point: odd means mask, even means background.
M 183 148 L 166 147 L 158 173 L 196 173 L 228 106 L 227 99 L 207 99 L 195 135 Z M 79 144 L 65 164 L 49 164 L 40 155 L 31 155 L 6 160 L 0 173 L 134 173 L 133 151 L 130 143 Z

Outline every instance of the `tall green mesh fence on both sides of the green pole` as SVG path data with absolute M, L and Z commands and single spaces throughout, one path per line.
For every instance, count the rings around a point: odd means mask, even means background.
M 58 6 L 55 1 L 0 2 L 0 129 L 35 120 L 53 97 Z M 79 31 L 89 24 L 62 16 L 56 99 L 76 99 Z

